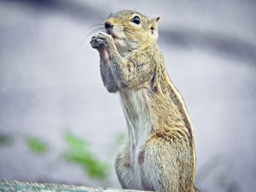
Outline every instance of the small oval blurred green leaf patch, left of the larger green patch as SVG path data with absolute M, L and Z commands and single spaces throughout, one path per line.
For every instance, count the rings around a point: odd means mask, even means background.
M 45 153 L 48 148 L 45 142 L 40 141 L 36 137 L 28 137 L 26 143 L 31 151 L 40 155 Z

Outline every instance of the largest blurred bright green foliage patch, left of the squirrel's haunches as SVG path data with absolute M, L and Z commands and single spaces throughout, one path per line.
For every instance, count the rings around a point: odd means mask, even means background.
M 64 158 L 78 164 L 90 177 L 105 179 L 109 170 L 108 164 L 104 164 L 89 150 L 89 143 L 67 132 L 64 134 L 68 149 L 64 152 Z

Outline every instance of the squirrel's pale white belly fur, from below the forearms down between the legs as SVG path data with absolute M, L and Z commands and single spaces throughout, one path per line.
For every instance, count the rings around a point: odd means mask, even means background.
M 141 183 L 143 169 L 139 162 L 139 155 L 145 147 L 146 140 L 153 129 L 153 123 L 148 111 L 148 90 L 139 88 L 136 90 L 121 91 L 121 103 L 127 120 L 128 137 L 126 146 L 129 148 L 129 171 L 128 183 L 132 188 L 143 189 Z

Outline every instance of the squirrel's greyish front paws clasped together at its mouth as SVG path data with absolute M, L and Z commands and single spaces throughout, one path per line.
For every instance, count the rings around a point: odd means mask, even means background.
M 111 37 L 109 34 L 100 32 L 97 35 L 94 35 L 94 37 L 91 37 L 91 47 L 94 49 L 97 49 L 99 47 L 110 45 L 113 42 L 113 37 Z

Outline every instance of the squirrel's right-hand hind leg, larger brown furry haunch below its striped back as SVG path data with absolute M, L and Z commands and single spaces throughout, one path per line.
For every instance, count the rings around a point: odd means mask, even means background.
M 160 192 L 194 191 L 193 161 L 186 142 L 171 137 L 154 138 L 147 142 L 144 155 L 143 183 Z

